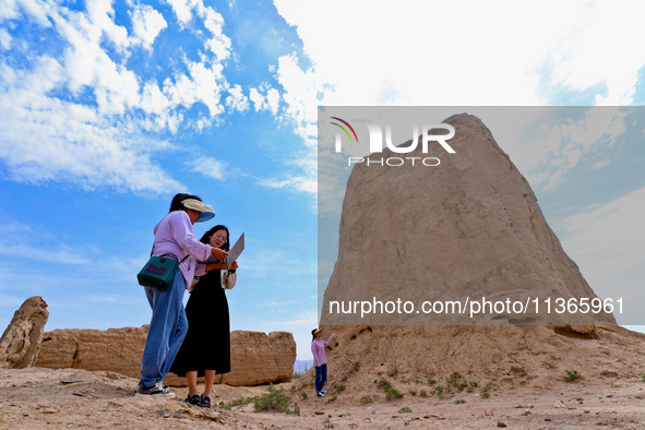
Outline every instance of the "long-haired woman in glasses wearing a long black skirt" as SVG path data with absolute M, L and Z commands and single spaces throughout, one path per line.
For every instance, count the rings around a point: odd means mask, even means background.
M 228 228 L 218 225 L 204 234 L 201 241 L 225 251 L 229 249 Z M 206 266 L 206 274 L 190 290 L 186 306 L 188 334 L 170 371 L 188 381 L 191 405 L 211 407 L 215 374 L 230 372 L 230 324 L 225 289 L 234 287 L 237 263 L 230 270 L 224 264 Z M 198 394 L 198 378 L 205 377 L 204 393 Z

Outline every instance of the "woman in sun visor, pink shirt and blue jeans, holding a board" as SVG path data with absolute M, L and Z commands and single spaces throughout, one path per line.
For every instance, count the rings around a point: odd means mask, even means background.
M 181 263 L 168 289 L 144 287 L 153 315 L 141 360 L 139 395 L 175 396 L 163 384 L 163 380 L 188 331 L 183 291 L 192 284 L 198 260 L 206 260 L 210 255 L 223 260 L 228 254 L 195 238 L 192 225 L 214 216 L 213 208 L 205 205 L 202 199 L 180 193 L 172 199 L 168 215 L 155 226 L 153 255 L 172 254 Z

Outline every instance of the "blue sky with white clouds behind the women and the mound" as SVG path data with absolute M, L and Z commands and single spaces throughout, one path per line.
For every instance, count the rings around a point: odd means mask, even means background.
M 628 49 L 645 36 L 640 2 L 392 4 L 3 1 L 0 326 L 34 295 L 47 330 L 147 323 L 134 276 L 188 191 L 246 232 L 232 329 L 290 331 L 309 358 L 318 105 L 645 99 L 645 51 Z M 581 228 L 642 279 L 642 142 L 504 150 L 592 287 L 610 280 Z M 629 216 L 607 232 L 608 213 Z

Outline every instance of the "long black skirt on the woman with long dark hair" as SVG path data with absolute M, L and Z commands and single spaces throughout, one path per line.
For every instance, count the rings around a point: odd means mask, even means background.
M 188 333 L 170 371 L 184 377 L 188 371 L 230 372 L 230 322 L 228 301 L 219 271 L 202 276 L 186 304 Z

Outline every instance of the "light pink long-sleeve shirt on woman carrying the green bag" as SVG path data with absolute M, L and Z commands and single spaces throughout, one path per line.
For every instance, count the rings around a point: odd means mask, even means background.
M 188 288 L 195 275 L 206 273 L 206 266 L 196 262 L 205 261 L 211 255 L 211 246 L 195 238 L 194 229 L 184 211 L 172 211 L 155 226 L 153 255 L 163 254 L 174 254 L 178 261 L 190 255 L 179 264 Z

